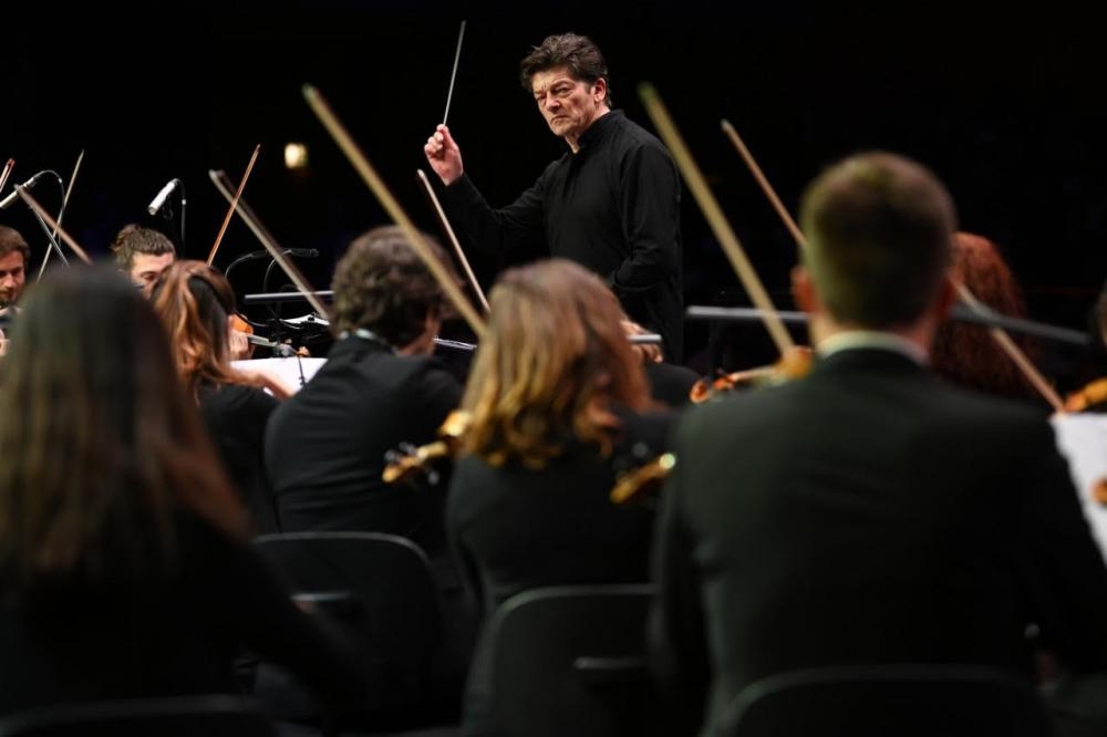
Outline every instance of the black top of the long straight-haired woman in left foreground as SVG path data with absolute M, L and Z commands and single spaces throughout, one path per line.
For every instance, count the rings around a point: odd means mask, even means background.
M 179 565 L 34 594 L 0 584 L 0 714 L 66 702 L 240 693 L 246 645 L 324 698 L 359 703 L 371 676 L 337 631 L 297 609 L 245 543 L 189 513 L 174 520 Z M 156 558 L 156 553 L 151 556 Z

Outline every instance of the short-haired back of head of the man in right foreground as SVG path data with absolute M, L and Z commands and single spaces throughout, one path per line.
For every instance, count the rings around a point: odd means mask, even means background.
M 800 222 L 804 266 L 839 324 L 906 328 L 942 291 L 956 211 L 917 162 L 884 152 L 841 160 L 807 187 Z

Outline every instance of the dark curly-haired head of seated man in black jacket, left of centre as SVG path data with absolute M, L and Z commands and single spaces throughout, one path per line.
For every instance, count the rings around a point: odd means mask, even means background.
M 442 247 L 420 235 L 452 272 Z M 399 226 L 373 228 L 350 243 L 334 268 L 331 289 L 335 334 L 366 329 L 402 349 L 424 335 L 428 320 L 444 316 L 442 287 Z

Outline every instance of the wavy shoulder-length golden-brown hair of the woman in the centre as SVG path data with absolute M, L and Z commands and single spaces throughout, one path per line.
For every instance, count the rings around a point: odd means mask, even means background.
M 650 404 L 611 290 L 571 261 L 547 259 L 504 272 L 490 307 L 462 401 L 472 421 L 463 450 L 541 467 L 576 436 L 609 453 L 614 406 Z

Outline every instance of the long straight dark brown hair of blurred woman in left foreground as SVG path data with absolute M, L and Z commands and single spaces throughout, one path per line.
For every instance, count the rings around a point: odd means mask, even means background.
M 174 560 L 178 509 L 247 530 L 162 325 L 124 276 L 51 272 L 14 333 L 0 370 L 0 589 L 156 572 Z

